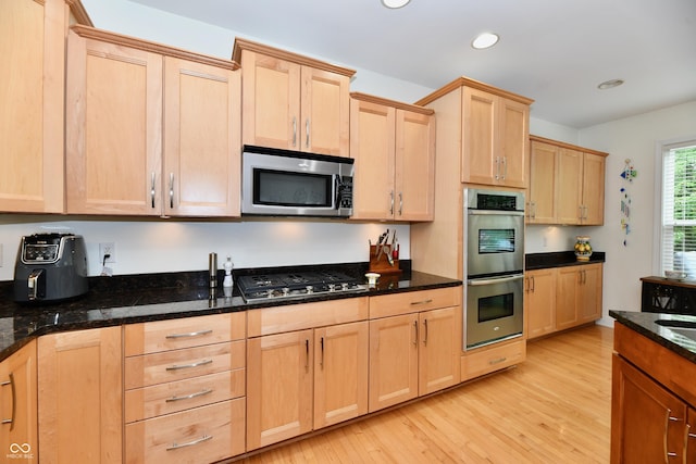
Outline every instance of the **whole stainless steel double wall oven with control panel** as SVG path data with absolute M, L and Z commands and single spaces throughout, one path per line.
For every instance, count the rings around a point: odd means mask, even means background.
M 464 350 L 522 336 L 524 193 L 464 190 Z

